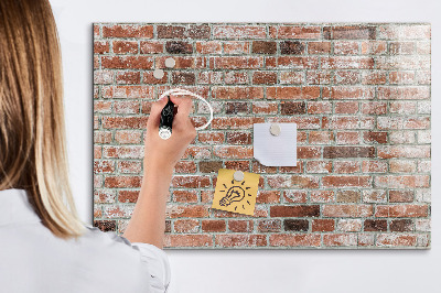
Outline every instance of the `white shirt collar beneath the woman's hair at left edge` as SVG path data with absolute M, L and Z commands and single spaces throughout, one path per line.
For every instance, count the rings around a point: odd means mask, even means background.
M 0 191 L 0 226 L 37 221 L 41 219 L 29 202 L 25 189 Z

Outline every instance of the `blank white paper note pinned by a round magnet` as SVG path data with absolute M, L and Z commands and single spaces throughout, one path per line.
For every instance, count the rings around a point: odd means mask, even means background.
M 254 124 L 254 156 L 265 166 L 297 166 L 297 124 L 277 123 L 278 135 L 271 134 L 271 124 Z

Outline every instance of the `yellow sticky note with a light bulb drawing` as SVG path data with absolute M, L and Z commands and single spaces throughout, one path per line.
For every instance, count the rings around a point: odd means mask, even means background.
M 219 169 L 212 208 L 252 216 L 260 175 L 244 172 L 244 180 L 235 181 L 235 172 Z

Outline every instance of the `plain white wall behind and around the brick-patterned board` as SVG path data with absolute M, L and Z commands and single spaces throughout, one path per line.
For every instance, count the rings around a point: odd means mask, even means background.
M 437 0 L 52 0 L 62 41 L 71 177 L 92 221 L 93 22 L 431 22 L 432 249 L 168 250 L 171 292 L 441 292 L 441 4 Z M 438 11 L 437 11 L 438 10 Z

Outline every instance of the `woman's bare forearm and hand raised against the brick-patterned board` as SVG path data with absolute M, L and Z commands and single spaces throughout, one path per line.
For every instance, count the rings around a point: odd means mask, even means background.
M 147 122 L 143 180 L 133 215 L 123 234 L 130 242 L 151 243 L 163 247 L 165 206 L 174 165 L 181 160 L 196 130 L 189 118 L 192 109 L 190 98 L 170 97 L 178 106 L 172 135 L 168 140 L 159 137 L 159 120 L 166 99 L 152 105 Z

